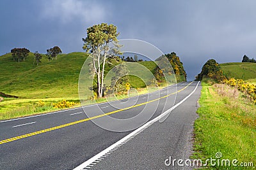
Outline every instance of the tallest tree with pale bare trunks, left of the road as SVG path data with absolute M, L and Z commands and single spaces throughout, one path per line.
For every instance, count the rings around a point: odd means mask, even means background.
M 87 37 L 83 38 L 83 49 L 91 53 L 93 77 L 95 74 L 97 76 L 98 97 L 103 95 L 106 58 L 121 54 L 120 45 L 117 44 L 118 35 L 115 25 L 102 23 L 88 27 Z M 109 45 L 111 42 L 113 46 Z

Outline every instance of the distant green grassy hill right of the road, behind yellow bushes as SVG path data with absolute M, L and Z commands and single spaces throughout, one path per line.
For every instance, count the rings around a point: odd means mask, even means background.
M 229 62 L 220 64 L 223 74 L 228 78 L 241 78 L 248 82 L 256 82 L 256 63 Z

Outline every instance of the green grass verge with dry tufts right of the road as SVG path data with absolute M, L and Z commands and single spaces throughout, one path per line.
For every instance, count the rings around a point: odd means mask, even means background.
M 193 159 L 237 159 L 256 166 L 256 107 L 227 85 L 202 82 L 199 100 L 200 118 L 195 121 L 195 153 Z M 211 167 L 211 169 L 244 169 L 242 167 Z M 205 167 L 205 169 L 207 169 Z M 249 168 L 251 169 L 251 168 Z

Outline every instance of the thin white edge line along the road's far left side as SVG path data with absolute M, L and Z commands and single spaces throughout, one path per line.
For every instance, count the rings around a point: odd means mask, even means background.
M 180 82 L 180 83 L 184 83 L 183 81 Z M 178 85 L 179 83 L 176 83 L 176 84 L 173 84 L 173 85 Z M 163 89 L 160 89 L 159 91 L 161 90 L 164 90 L 164 89 L 168 89 L 170 87 L 173 87 L 173 85 L 170 85 L 168 87 L 164 87 Z M 157 92 L 157 91 L 155 91 Z M 154 92 L 150 92 L 148 94 L 152 94 Z M 147 94 L 141 94 L 139 96 L 143 96 L 143 95 L 147 95 Z M 139 97 L 139 96 L 134 96 L 134 97 Z M 129 99 L 131 98 L 134 98 L 134 97 L 129 97 Z M 122 101 L 122 100 L 125 100 L 125 99 L 120 99 L 118 101 Z M 0 121 L 0 123 L 3 123 L 3 122 L 11 122 L 11 121 L 14 121 L 14 120 L 21 120 L 21 119 L 25 119 L 25 118 L 33 118 L 33 117 L 41 117 L 41 116 L 45 116 L 45 115 L 51 115 L 51 114 L 54 114 L 54 113 L 60 113 L 60 112 L 63 112 L 63 111 L 70 111 L 70 110 L 77 110 L 77 109 L 81 109 L 81 108 L 87 108 L 87 107 L 90 107 L 90 106 L 95 106 L 95 105 L 100 105 L 100 104 L 106 104 L 106 103 L 113 103 L 113 102 L 116 102 L 116 101 L 111 101 L 111 102 L 105 102 L 105 103 L 97 103 L 97 104 L 92 104 L 92 105 L 88 105 L 88 106 L 83 106 L 83 107 L 79 107 L 79 108 L 73 108 L 73 109 L 68 109 L 68 110 L 60 110 L 60 111 L 54 111 L 54 112 L 51 112 L 51 113 L 44 113 L 44 114 L 40 114 L 40 115 L 34 115 L 34 116 L 30 116 L 30 117 L 21 117 L 21 118 L 13 118 L 13 119 L 10 119 L 10 120 L 3 120 L 3 121 Z

